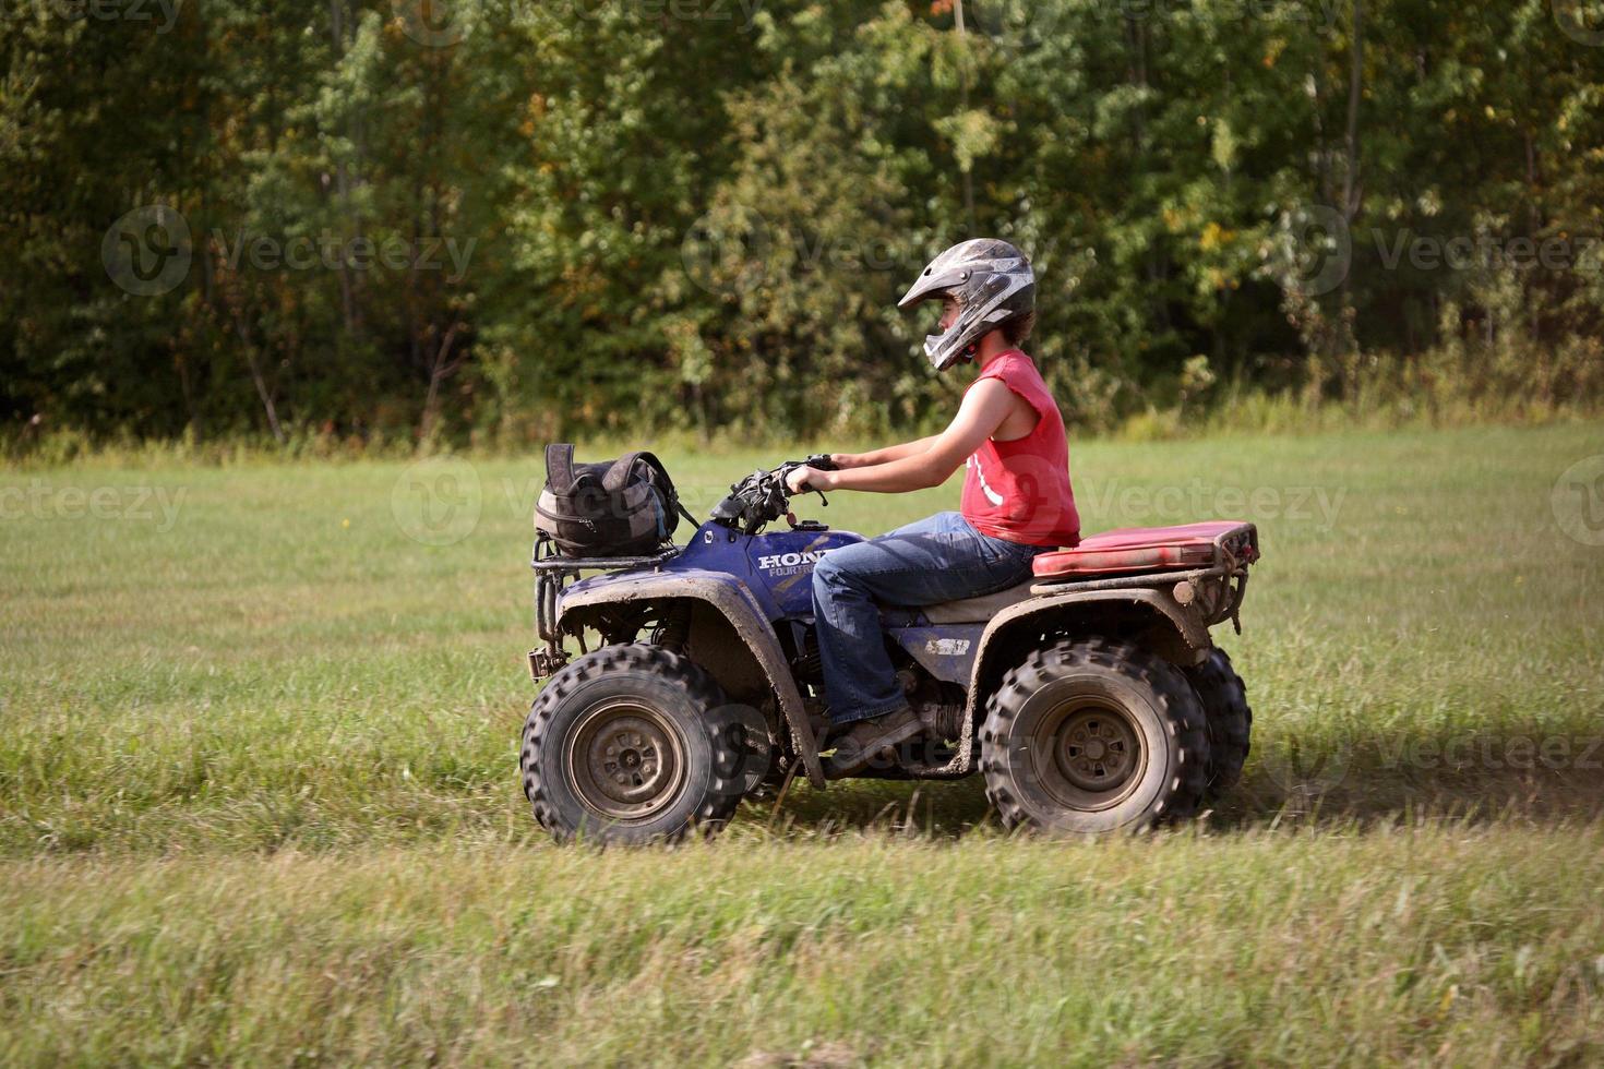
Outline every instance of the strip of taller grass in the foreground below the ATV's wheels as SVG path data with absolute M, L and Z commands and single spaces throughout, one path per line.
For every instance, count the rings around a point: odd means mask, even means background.
M 6 1064 L 1604 1056 L 1596 825 L 439 843 L 3 875 Z

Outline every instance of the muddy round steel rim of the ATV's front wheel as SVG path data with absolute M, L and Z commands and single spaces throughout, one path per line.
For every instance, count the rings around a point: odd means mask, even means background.
M 635 699 L 605 699 L 579 713 L 566 758 L 574 797 L 610 821 L 650 821 L 685 785 L 685 739 Z

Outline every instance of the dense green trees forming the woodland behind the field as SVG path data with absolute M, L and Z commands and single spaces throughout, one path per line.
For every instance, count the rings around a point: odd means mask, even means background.
M 895 298 L 978 232 L 1033 255 L 1083 426 L 1217 410 L 1200 356 L 1344 404 L 1440 353 L 1501 389 L 1604 333 L 1594 8 L 5 5 L 0 420 L 911 431 L 958 383 Z M 146 296 L 103 261 L 141 205 L 191 239 Z

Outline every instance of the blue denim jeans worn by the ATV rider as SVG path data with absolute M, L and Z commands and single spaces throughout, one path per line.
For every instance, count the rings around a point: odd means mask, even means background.
M 885 651 L 879 604 L 927 606 L 996 593 L 1030 577 L 1031 559 L 1046 551 L 983 535 L 958 513 L 937 513 L 820 558 L 813 622 L 829 718 L 844 724 L 908 705 Z

